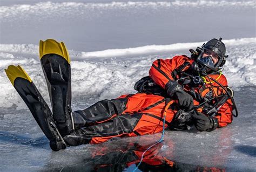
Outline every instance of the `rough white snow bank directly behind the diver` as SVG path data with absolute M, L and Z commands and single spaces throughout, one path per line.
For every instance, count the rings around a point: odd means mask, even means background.
M 135 93 L 134 83 L 148 75 L 152 61 L 158 58 L 171 58 L 176 54 L 189 56 L 188 49 L 196 49 L 203 43 L 148 45 L 96 52 L 70 50 L 73 106 L 87 107 L 100 99 Z M 255 86 L 256 38 L 230 39 L 224 40 L 224 43 L 229 55 L 224 74 L 229 85 L 236 89 L 241 86 Z M 4 72 L 4 68 L 11 64 L 23 66 L 43 97 L 49 102 L 38 58 L 38 45 L 0 44 L 0 62 L 2 71 L 0 73 L 0 96 L 2 97 L 0 107 L 25 107 Z

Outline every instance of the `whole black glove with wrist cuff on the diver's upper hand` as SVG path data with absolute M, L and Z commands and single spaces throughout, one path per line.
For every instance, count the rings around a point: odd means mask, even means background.
M 178 99 L 178 105 L 181 109 L 191 110 L 194 106 L 193 98 L 182 90 L 181 86 L 176 81 L 169 81 L 165 85 L 165 90 L 171 98 Z

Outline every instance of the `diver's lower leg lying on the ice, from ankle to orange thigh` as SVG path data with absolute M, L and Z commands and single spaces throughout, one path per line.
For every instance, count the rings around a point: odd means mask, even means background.
M 158 108 L 165 104 L 159 105 Z M 70 146 L 78 146 L 87 143 L 102 143 L 113 137 L 138 136 L 145 134 L 154 134 L 163 130 L 164 118 L 161 114 L 154 114 L 154 108 L 151 109 L 151 114 L 136 113 L 122 114 L 85 128 L 74 130 L 70 135 L 63 137 L 65 142 Z M 170 125 L 173 113 L 167 116 L 165 120 L 165 128 Z

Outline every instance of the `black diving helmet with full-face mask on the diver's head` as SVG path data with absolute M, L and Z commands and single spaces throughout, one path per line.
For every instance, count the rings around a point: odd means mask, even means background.
M 226 62 L 226 46 L 223 42 L 221 42 L 222 38 L 211 39 L 206 44 L 203 44 L 201 47 L 201 53 L 197 59 L 198 63 L 210 68 L 213 71 L 217 71 L 219 67 L 223 66 Z M 212 52 L 217 58 L 218 62 L 216 64 L 213 63 L 211 58 L 203 58 L 204 53 Z

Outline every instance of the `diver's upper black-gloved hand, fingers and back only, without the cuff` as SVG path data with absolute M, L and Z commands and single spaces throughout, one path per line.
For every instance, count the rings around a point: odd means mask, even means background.
M 181 109 L 190 111 L 193 108 L 194 102 L 190 94 L 187 94 L 183 90 L 178 90 L 174 93 L 174 96 L 178 99 L 178 105 Z

